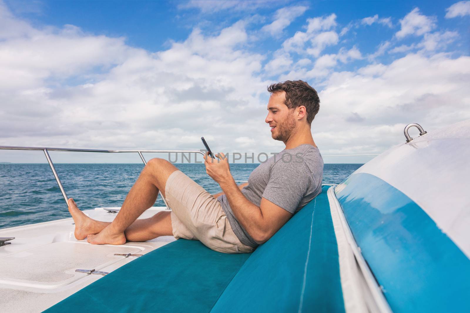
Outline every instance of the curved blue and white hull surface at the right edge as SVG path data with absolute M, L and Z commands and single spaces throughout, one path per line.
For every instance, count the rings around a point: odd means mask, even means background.
M 469 160 L 464 121 L 382 153 L 334 190 L 395 312 L 470 312 Z

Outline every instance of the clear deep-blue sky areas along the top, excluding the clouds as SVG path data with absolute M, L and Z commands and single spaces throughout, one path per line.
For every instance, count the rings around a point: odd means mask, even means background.
M 341 38 L 344 46 L 356 45 L 363 53 L 374 53 L 382 42 L 389 40 L 397 31 L 399 20 L 415 8 L 422 15 L 436 19 L 439 29 L 458 31 L 468 35 L 468 18 L 445 18 L 449 1 L 269 1 L 251 9 L 215 10 L 206 12 L 191 7 L 186 1 L 7 1 L 8 7 L 17 16 L 31 21 L 37 27 L 65 24 L 80 27 L 81 30 L 95 35 L 125 37 L 129 46 L 157 52 L 170 47 L 172 41 L 188 38 L 195 27 L 202 29 L 204 35 L 214 35 L 241 19 L 252 18 L 247 31 L 256 32 L 264 24 L 272 22 L 279 8 L 292 6 L 305 7 L 305 12 L 288 25 L 278 37 L 259 36 L 253 50 L 272 53 L 282 42 L 302 30 L 305 19 L 310 16 L 336 14 L 338 28 L 351 26 L 348 35 Z M 210 4 L 209 4 L 210 6 Z M 26 8 L 25 8 L 26 7 Z M 30 7 L 28 9 L 27 7 Z M 392 27 L 384 24 L 369 26 L 361 24 L 363 18 L 378 15 L 389 18 Z M 464 37 L 461 39 L 465 39 Z M 416 38 L 404 38 L 401 43 L 410 44 Z M 336 47 L 328 47 L 325 53 L 334 53 Z M 469 40 L 453 42 L 448 51 L 456 55 L 468 53 Z M 396 56 L 384 54 L 381 61 L 393 61 Z M 348 64 L 346 69 L 360 66 L 365 62 Z

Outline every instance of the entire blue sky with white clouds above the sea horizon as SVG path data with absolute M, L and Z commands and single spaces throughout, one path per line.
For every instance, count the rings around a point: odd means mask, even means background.
M 0 1 L 0 145 L 278 152 L 266 85 L 303 79 L 323 154 L 381 153 L 470 118 L 469 20 L 470 1 Z

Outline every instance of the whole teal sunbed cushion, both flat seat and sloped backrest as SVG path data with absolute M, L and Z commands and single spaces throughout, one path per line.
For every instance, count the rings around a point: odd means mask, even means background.
M 327 189 L 253 253 L 179 239 L 46 312 L 344 312 Z

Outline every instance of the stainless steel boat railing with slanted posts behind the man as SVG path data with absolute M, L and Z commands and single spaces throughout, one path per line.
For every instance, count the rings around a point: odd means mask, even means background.
M 139 156 L 141 157 L 142 162 L 147 165 L 147 161 L 145 160 L 144 156 L 142 153 L 200 153 L 204 155 L 204 152 L 199 151 L 199 150 L 96 150 L 96 149 L 68 149 L 68 148 L 47 148 L 47 147 L 16 147 L 16 146 L 6 146 L 6 145 L 0 145 L 0 149 L 2 150 L 36 150 L 36 151 L 43 151 L 44 154 L 46 155 L 47 163 L 49 163 L 49 166 L 51 167 L 52 173 L 54 174 L 55 180 L 57 181 L 57 184 L 59 185 L 59 189 L 62 192 L 62 196 L 65 200 L 65 203 L 67 203 L 67 194 L 65 193 L 65 190 L 63 189 L 62 182 L 60 181 L 59 176 L 57 175 L 57 172 L 55 171 L 54 163 L 51 160 L 51 157 L 49 156 L 49 151 L 69 151 L 69 152 L 99 152 L 99 153 L 138 153 Z M 160 194 L 160 197 L 162 197 L 163 202 L 165 203 L 165 206 L 170 209 L 168 204 L 166 203 L 165 198 L 163 198 L 162 193 L 158 191 Z M 68 205 L 68 203 L 67 203 Z

